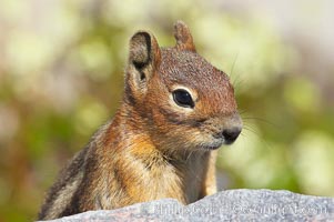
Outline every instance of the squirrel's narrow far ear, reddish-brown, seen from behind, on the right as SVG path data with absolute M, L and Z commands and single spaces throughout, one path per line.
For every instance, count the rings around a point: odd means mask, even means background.
M 176 49 L 196 51 L 192 36 L 188 26 L 183 21 L 176 21 L 174 24 L 174 37 L 176 39 Z

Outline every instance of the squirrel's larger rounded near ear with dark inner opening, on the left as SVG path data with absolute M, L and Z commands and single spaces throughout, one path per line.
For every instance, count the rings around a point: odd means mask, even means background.
M 150 79 L 160 61 L 161 52 L 154 36 L 146 31 L 136 32 L 130 40 L 129 65 L 139 74 L 138 80 Z

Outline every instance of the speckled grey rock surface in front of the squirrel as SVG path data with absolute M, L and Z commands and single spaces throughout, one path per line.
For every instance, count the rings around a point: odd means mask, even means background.
M 334 199 L 289 191 L 229 190 L 186 206 L 163 199 L 53 220 L 74 221 L 334 221 Z

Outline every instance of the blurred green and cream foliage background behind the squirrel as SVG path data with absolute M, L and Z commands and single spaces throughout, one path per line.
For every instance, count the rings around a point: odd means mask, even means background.
M 128 41 L 200 54 L 232 79 L 245 122 L 221 189 L 334 196 L 334 6 L 323 1 L 1 0 L 0 222 L 36 219 L 58 171 L 120 104 Z

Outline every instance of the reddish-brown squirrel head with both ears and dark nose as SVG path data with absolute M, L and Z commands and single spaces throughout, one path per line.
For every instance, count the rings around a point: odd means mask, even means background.
M 229 77 L 196 53 L 189 28 L 174 24 L 176 44 L 160 48 L 148 31 L 130 40 L 124 101 L 129 118 L 160 149 L 213 150 L 242 130 Z

